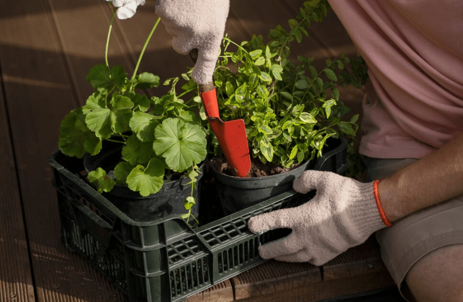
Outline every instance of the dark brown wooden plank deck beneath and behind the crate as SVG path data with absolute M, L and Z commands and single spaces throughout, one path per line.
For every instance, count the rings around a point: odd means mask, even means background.
M 109 62 L 133 70 L 156 16 L 154 0 L 134 18 L 118 21 Z M 269 6 L 269 3 L 272 6 Z M 297 13 L 302 1 L 233 0 L 227 32 L 236 41 L 264 36 Z M 57 149 L 63 117 L 91 93 L 85 75 L 104 63 L 110 7 L 104 0 L 13 0 L 0 4 L 0 301 L 123 301 L 123 296 L 60 242 L 57 198 L 47 157 Z M 336 17 L 314 24 L 293 50 L 320 64 L 355 48 Z M 141 71 L 161 79 L 190 66 L 160 26 Z M 160 88 L 162 90 L 162 88 Z M 157 93 L 157 92 L 154 92 Z M 361 92 L 342 90 L 358 110 Z M 374 240 L 321 268 L 267 262 L 203 293 L 200 301 L 320 301 L 392 286 Z

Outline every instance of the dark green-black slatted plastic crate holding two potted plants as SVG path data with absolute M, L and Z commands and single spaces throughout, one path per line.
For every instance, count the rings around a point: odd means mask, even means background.
M 346 146 L 341 140 L 313 168 L 344 173 Z M 287 233 L 253 234 L 248 219 L 310 198 L 291 190 L 195 229 L 177 215 L 138 222 L 93 189 L 85 179 L 82 160 L 56 151 L 49 162 L 54 168 L 63 242 L 130 302 L 184 301 L 265 262 L 259 244 Z

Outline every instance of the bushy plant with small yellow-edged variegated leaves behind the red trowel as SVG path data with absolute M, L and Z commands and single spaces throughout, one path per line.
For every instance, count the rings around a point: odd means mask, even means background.
M 360 87 L 366 78 L 363 60 L 341 56 L 316 70 L 313 58 L 289 59 L 291 42 L 308 36 L 310 23 L 321 21 L 328 7 L 325 0 L 306 1 L 288 21 L 290 31 L 278 25 L 265 45 L 255 35 L 241 43 L 228 36 L 223 40 L 214 74 L 219 110 L 223 120 L 244 120 L 250 152 L 263 163 L 290 167 L 321 156 L 330 137 L 356 135 L 358 115 L 343 120 L 350 109 L 339 100 L 336 87 Z

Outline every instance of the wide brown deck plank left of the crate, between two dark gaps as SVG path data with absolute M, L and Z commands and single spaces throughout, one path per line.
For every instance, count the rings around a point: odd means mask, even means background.
M 67 3 L 75 13 L 88 8 L 80 2 Z M 122 295 L 109 282 L 60 242 L 56 192 L 47 157 L 57 149 L 62 118 L 78 101 L 49 3 L 38 0 L 3 4 L 0 63 L 30 243 L 35 299 L 122 301 Z

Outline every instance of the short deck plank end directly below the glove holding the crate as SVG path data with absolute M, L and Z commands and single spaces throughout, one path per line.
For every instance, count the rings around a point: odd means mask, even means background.
M 235 299 L 277 295 L 322 281 L 320 269 L 308 263 L 267 261 L 231 279 Z

